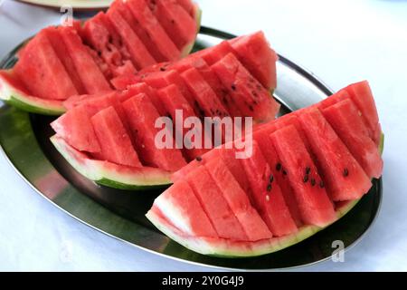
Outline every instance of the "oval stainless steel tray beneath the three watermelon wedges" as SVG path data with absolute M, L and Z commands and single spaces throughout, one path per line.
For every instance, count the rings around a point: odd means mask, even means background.
M 233 35 L 202 27 L 195 50 L 219 43 Z M 15 48 L 1 68 L 15 63 Z M 332 92 L 312 73 L 279 56 L 278 89 L 275 98 L 283 104 L 281 113 L 319 102 Z M 16 172 L 53 205 L 111 237 L 156 255 L 233 269 L 277 269 L 307 266 L 330 258 L 335 240 L 346 248 L 364 236 L 374 222 L 382 199 L 382 179 L 357 206 L 334 225 L 307 240 L 277 253 L 252 258 L 217 258 L 196 254 L 161 234 L 145 218 L 161 191 L 124 191 L 100 187 L 78 172 L 53 148 L 49 137 L 51 117 L 28 114 L 0 102 L 0 145 Z M 134 257 L 137 259 L 137 256 Z

